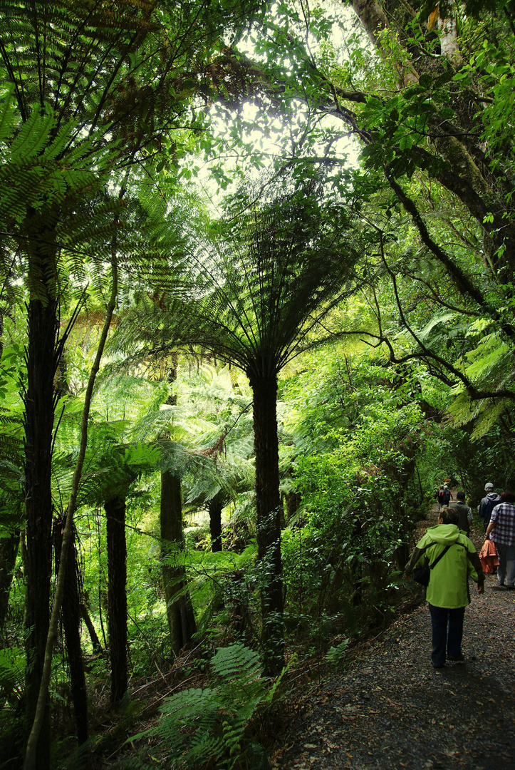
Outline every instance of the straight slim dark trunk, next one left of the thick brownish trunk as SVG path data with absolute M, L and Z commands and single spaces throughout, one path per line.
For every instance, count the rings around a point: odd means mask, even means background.
M 107 529 L 109 658 L 111 703 L 116 705 L 127 691 L 127 545 L 125 542 L 125 497 L 104 504 Z

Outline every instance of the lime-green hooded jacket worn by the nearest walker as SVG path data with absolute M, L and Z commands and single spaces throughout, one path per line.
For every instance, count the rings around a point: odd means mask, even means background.
M 449 550 L 430 571 L 426 599 L 434 607 L 467 607 L 470 604 L 469 576 L 481 585 L 484 574 L 473 542 L 456 524 L 436 524 L 426 530 L 406 564 L 406 575 L 423 564 L 433 564 L 446 545 L 450 545 Z

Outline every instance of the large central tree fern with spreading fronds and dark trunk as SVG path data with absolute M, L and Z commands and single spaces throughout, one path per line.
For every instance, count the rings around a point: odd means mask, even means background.
M 324 196 L 321 179 L 304 170 L 302 182 L 286 174 L 282 191 L 274 186 L 261 199 L 255 186 L 242 186 L 226 219 L 192 243 L 189 289 L 147 301 L 143 322 L 139 314 L 131 323 L 129 312 L 120 330 L 132 350 L 135 340 L 152 340 L 156 355 L 198 344 L 249 377 L 268 674 L 283 668 L 284 640 L 277 377 L 299 353 L 331 336 L 324 321 L 359 285 L 354 266 L 373 238 L 363 227 L 353 229 L 349 209 Z

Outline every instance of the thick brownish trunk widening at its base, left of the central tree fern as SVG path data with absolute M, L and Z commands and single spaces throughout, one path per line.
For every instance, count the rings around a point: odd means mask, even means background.
M 182 551 L 184 547 L 181 480 L 168 470 L 161 474 L 160 521 L 166 616 L 172 650 L 179 654 L 182 648 L 192 641 L 192 636 L 196 633 L 196 621 L 187 586 L 186 569 L 183 564 L 174 564 L 174 554 Z

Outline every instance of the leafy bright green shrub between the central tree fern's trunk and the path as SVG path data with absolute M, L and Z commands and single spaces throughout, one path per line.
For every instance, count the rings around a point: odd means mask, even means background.
M 398 385 L 394 372 L 386 377 L 363 361 L 343 388 L 351 373 L 336 377 L 337 369 L 326 380 L 312 376 L 318 390 L 309 409 L 302 404 L 293 439 L 303 512 L 283 534 L 289 616 L 303 625 L 307 618 L 312 635 L 323 617 L 346 634 L 360 615 L 362 624 L 382 620 L 396 549 L 420 507 L 415 471 L 425 435 L 410 381 Z

